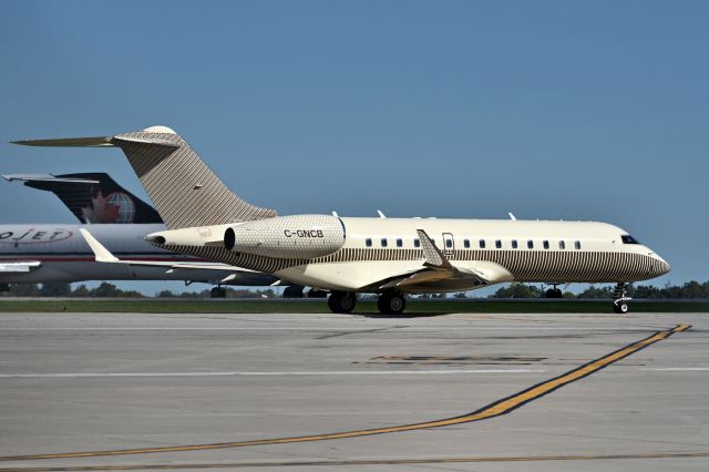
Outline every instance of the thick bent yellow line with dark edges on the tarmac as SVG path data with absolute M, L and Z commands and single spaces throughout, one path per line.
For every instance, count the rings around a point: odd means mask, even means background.
M 425 422 L 418 422 L 418 423 L 394 425 L 394 427 L 342 431 L 342 432 L 336 432 L 336 433 L 257 439 L 257 440 L 235 441 L 235 442 L 219 442 L 219 443 L 210 443 L 210 444 L 172 445 L 172 447 L 167 445 L 167 447 L 158 447 L 158 448 L 141 448 L 141 449 L 136 448 L 136 449 L 119 449 L 119 450 L 84 451 L 84 452 L 40 453 L 40 454 L 31 454 L 31 455 L 6 455 L 6 456 L 0 456 L 0 461 L 9 462 L 9 461 L 35 461 L 35 460 L 45 460 L 45 459 L 97 458 L 97 456 L 134 455 L 134 454 L 165 453 L 165 452 L 203 451 L 203 450 L 230 449 L 230 448 L 247 448 L 247 447 L 267 445 L 267 444 L 287 444 L 287 443 L 298 443 L 298 442 L 359 438 L 359 437 L 366 437 L 366 435 L 386 434 L 386 433 L 423 430 L 423 429 L 430 429 L 430 428 L 441 428 L 441 427 L 449 427 L 454 424 L 470 423 L 473 421 L 486 420 L 490 418 L 495 418 L 495 417 L 510 413 L 511 411 L 514 411 L 515 409 L 528 402 L 532 402 L 542 397 L 545 397 L 546 394 L 552 393 L 553 391 L 566 384 L 584 379 L 585 377 L 588 377 L 610 366 L 612 363 L 615 363 L 621 359 L 625 359 L 626 357 L 641 349 L 645 349 L 648 346 L 651 346 L 658 341 L 667 339 L 674 334 L 687 331 L 689 328 L 691 328 L 691 325 L 681 324 L 664 331 L 657 331 L 654 335 L 648 336 L 647 338 L 631 342 L 630 345 L 627 345 L 610 353 L 607 353 L 585 365 L 576 367 L 575 369 L 572 369 L 566 373 L 562 373 L 561 376 L 542 381 L 537 384 L 528 387 L 527 389 L 522 390 L 517 393 L 514 393 L 510 397 L 505 397 L 500 400 L 496 400 L 471 413 L 462 414 L 459 417 L 446 418 L 442 420 L 433 420 L 433 421 L 425 421 Z

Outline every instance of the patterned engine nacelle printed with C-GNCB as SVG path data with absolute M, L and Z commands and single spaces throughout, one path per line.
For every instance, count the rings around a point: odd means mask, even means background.
M 345 226 L 330 215 L 292 215 L 239 223 L 224 233 L 224 247 L 279 259 L 328 256 L 345 245 Z

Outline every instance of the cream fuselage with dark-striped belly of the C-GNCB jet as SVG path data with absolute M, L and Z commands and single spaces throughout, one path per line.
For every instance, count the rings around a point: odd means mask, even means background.
M 430 236 L 453 266 L 477 274 L 487 284 L 627 283 L 669 271 L 659 255 L 626 232 L 595 222 L 294 215 L 160 232 L 150 239 L 169 250 L 321 289 L 381 291 L 389 278 L 422 268 L 425 255 L 418 229 Z M 440 293 L 480 285 L 474 277 L 449 277 L 397 288 Z

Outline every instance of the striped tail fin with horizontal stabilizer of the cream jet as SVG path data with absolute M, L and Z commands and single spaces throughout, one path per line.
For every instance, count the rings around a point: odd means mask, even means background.
M 230 192 L 189 144 L 165 126 L 107 137 L 17 141 L 33 146 L 117 146 L 123 150 L 169 229 L 276 216 Z

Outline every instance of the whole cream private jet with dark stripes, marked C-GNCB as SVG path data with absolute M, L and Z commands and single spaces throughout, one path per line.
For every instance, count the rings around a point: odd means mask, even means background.
M 380 311 L 400 314 L 405 294 L 507 281 L 616 283 L 614 309 L 627 312 L 629 283 L 670 270 L 659 255 L 606 223 L 277 216 L 230 192 L 165 126 L 16 143 L 122 148 L 168 228 L 146 240 L 329 290 L 335 312 L 350 312 L 361 293 L 379 294 Z M 96 243 L 92 248 L 102 260 L 121 263 Z

